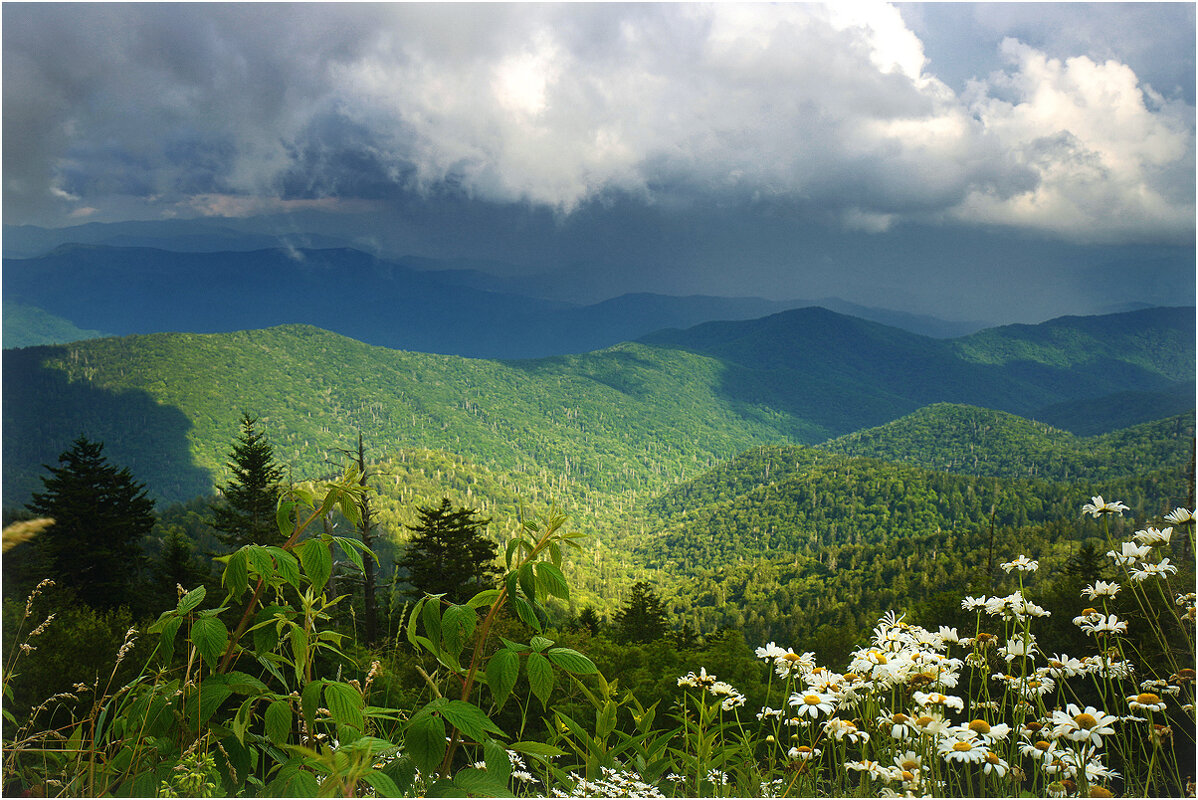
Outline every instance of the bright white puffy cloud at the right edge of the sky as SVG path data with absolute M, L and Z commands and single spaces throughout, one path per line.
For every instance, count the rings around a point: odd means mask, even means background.
M 1010 196 L 975 188 L 958 218 L 1079 241 L 1192 238 L 1192 108 L 1117 61 L 1049 59 L 1015 40 L 1003 50 L 1012 71 L 974 84 L 967 101 L 1037 181 Z

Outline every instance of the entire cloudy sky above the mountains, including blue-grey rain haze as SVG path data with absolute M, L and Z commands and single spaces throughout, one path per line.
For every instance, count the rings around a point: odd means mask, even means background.
M 1040 321 L 1194 299 L 1193 4 L 2 6 L 4 222 Z

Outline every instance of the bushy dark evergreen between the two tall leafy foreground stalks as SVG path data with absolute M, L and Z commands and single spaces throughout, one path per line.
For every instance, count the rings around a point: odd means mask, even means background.
M 411 596 L 444 594 L 460 604 L 495 584 L 498 547 L 483 533 L 490 519 L 476 519 L 473 509 L 454 509 L 448 498 L 438 508 L 420 507 L 416 513 L 419 523 L 406 526 L 415 535 L 395 560 L 407 572 Z

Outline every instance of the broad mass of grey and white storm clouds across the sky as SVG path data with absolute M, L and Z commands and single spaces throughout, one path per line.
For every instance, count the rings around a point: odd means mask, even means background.
M 6 4 L 5 220 L 450 194 L 559 218 L 778 202 L 865 234 L 1192 243 L 1192 96 L 1142 80 L 1109 30 L 1089 51 L 1067 37 L 1057 49 L 1014 24 L 1000 35 L 999 11 L 997 67 L 942 80 L 906 19 L 934 13 Z M 1126 56 L 1146 59 L 1137 43 L 1175 17 L 1136 16 Z

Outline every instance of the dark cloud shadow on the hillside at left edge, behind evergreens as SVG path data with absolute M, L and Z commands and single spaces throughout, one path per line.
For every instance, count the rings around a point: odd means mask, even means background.
M 104 455 L 128 467 L 159 502 L 207 495 L 212 475 L 192 461 L 181 411 L 158 404 L 140 390 L 113 392 L 43 364 L 69 357 L 71 347 L 4 351 L 4 504 L 24 505 L 40 491 L 43 465 L 58 466 L 59 454 L 80 435 L 104 443 Z

